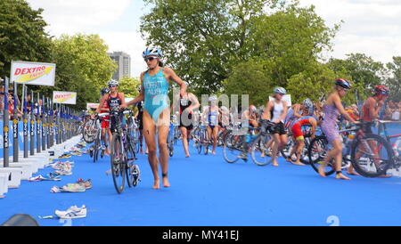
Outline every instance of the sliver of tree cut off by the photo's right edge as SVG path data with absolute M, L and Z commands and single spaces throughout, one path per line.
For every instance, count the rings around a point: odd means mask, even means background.
M 387 78 L 386 85 L 390 89 L 389 99 L 399 102 L 401 100 L 401 57 L 393 57 L 387 64 L 391 76 Z

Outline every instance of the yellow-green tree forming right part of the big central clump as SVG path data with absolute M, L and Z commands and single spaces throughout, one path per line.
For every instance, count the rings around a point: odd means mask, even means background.
M 326 27 L 313 5 L 303 8 L 295 2 L 255 18 L 245 49 L 253 57 L 270 60 L 272 79 L 285 87 L 288 79 L 309 69 L 323 50 L 331 50 L 331 39 L 339 28 Z

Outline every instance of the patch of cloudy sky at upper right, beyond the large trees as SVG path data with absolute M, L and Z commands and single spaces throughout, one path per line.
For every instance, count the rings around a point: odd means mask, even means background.
M 314 4 L 316 12 L 329 26 L 344 20 L 334 39 L 334 52 L 344 58 L 347 53 L 366 53 L 382 62 L 401 55 L 401 2 L 398 0 L 301 0 Z

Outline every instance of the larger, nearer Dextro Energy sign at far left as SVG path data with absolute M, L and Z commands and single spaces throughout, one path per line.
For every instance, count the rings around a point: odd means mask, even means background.
M 55 64 L 12 61 L 11 81 L 25 85 L 54 85 Z

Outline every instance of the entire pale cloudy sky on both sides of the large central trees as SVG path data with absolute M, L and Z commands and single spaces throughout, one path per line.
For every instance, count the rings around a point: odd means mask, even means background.
M 75 33 L 98 34 L 109 51 L 131 55 L 131 76 L 146 69 L 142 59 L 145 41 L 139 33 L 140 18 L 149 11 L 142 0 L 28 0 L 43 8 L 55 37 Z M 366 53 L 374 60 L 389 62 L 401 55 L 400 0 L 300 0 L 302 6 L 314 4 L 329 27 L 341 24 L 334 38 L 333 52 L 324 57 L 343 59 L 347 53 Z

